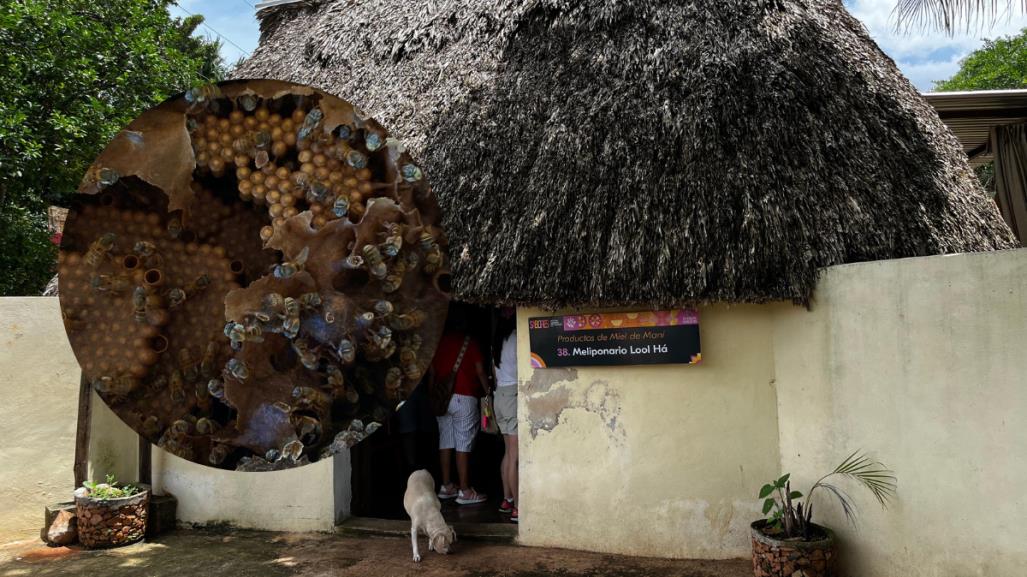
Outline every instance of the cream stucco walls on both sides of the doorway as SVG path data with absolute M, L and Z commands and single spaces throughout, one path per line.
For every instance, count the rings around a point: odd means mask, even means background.
M 887 510 L 853 489 L 858 529 L 819 505 L 846 574 L 1023 573 L 1027 249 L 834 267 L 811 310 L 705 307 L 697 367 L 533 372 L 539 314 L 519 312 L 522 542 L 746 556 L 762 483 L 784 470 L 801 489 L 864 449 L 900 489 Z M 72 490 L 79 373 L 55 299 L 0 299 L 0 515 L 34 532 Z M 135 433 L 101 402 L 91 431 L 91 474 L 134 479 Z M 347 458 L 234 473 L 155 452 L 153 466 L 189 523 L 327 530 L 348 506 Z

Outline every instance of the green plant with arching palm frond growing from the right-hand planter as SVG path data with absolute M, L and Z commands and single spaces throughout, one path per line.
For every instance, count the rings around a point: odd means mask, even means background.
M 772 483 L 760 489 L 760 499 L 763 499 L 763 514 L 767 517 L 767 528 L 772 532 L 784 532 L 785 537 L 794 539 L 801 537 L 809 540 L 812 537 L 813 503 L 812 496 L 817 489 L 824 489 L 834 495 L 841 504 L 845 518 L 855 525 L 855 504 L 840 487 L 829 479 L 835 476 L 848 477 L 867 488 L 881 507 L 887 508 L 888 502 L 896 495 L 895 473 L 867 457 L 860 451 L 849 455 L 833 471 L 822 476 L 803 496 L 798 491 L 792 491 L 789 474 L 782 475 Z

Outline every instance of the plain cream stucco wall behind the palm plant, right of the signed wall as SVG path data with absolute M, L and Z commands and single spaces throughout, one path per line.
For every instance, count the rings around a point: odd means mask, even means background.
M 855 529 L 814 506 L 847 574 L 1023 575 L 1027 249 L 834 267 L 774 320 L 784 470 L 805 491 L 862 449 L 899 477 L 887 510 L 850 491 Z

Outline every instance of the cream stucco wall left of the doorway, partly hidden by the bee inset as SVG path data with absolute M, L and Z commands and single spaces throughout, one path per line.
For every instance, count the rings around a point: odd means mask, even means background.
M 37 535 L 43 508 L 71 499 L 80 371 L 58 299 L 0 298 L 0 539 Z M 90 478 L 136 482 L 139 436 L 92 395 Z M 179 520 L 278 531 L 331 531 L 349 512 L 349 456 L 287 471 L 237 473 L 152 448 L 157 493 Z

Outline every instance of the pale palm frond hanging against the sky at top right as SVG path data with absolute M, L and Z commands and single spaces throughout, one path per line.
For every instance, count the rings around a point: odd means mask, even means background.
M 965 24 L 989 28 L 1000 17 L 1010 17 L 1019 6 L 1027 12 L 1027 0 L 899 0 L 895 8 L 896 28 L 909 31 L 944 30 L 952 34 Z

